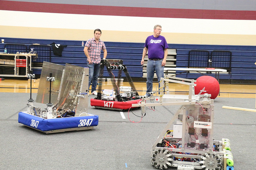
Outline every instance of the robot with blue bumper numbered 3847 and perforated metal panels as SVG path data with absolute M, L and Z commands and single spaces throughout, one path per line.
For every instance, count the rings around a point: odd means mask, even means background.
M 66 63 L 65 66 L 44 62 L 36 102 L 46 104 L 44 109 L 34 106 L 31 96 L 27 111 L 18 113 L 18 122 L 44 133 L 80 131 L 98 125 L 98 115 L 88 112 L 88 68 Z M 49 98 L 49 102 L 48 102 Z

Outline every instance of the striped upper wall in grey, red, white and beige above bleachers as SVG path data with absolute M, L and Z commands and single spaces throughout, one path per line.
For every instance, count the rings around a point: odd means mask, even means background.
M 256 2 L 191 2 L 0 0 L 0 37 L 144 42 L 160 24 L 168 43 L 256 45 Z

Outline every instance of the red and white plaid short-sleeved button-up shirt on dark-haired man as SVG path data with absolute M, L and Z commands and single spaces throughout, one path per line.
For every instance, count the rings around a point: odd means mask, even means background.
M 97 44 L 97 42 L 95 41 L 95 38 L 93 37 L 91 39 L 88 39 L 88 41 L 86 41 L 84 46 L 88 47 L 88 53 L 92 63 L 95 63 L 95 64 L 100 63 L 101 50 L 106 49 L 104 42 L 99 39 L 99 43 Z

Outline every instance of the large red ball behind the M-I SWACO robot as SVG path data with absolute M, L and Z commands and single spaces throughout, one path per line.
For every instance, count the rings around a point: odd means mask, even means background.
M 220 84 L 218 80 L 212 76 L 201 76 L 196 79 L 195 82 L 195 94 L 199 94 L 200 91 L 205 87 L 201 94 L 211 94 L 211 99 L 215 99 L 220 92 Z

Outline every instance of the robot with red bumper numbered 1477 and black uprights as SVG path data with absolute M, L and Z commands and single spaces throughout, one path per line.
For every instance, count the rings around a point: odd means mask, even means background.
M 113 86 L 112 90 L 105 89 L 102 91 L 104 66 L 106 66 L 108 71 Z M 112 70 L 118 70 L 118 78 L 114 76 Z M 130 86 L 120 86 L 122 71 L 124 72 Z M 132 78 L 130 77 L 126 65 L 123 64 L 122 60 L 102 59 L 100 62 L 98 84 L 97 97 L 90 100 L 91 106 L 102 109 L 127 110 L 132 107 L 132 104 L 138 104 L 141 102 Z

